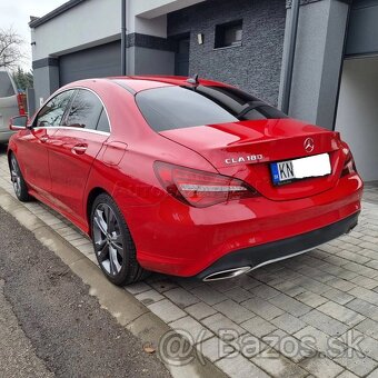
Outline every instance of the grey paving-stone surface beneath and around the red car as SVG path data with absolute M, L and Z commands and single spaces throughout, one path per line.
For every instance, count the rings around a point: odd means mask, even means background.
M 4 153 L 0 187 L 13 193 Z M 96 260 L 60 216 L 24 206 Z M 369 188 L 350 235 L 309 253 L 233 280 L 152 275 L 126 290 L 230 377 L 378 377 L 378 191 Z

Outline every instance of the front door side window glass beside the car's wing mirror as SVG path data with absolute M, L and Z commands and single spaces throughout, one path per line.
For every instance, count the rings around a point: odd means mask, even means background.
M 38 113 L 37 127 L 60 126 L 73 90 L 59 93 L 52 98 Z

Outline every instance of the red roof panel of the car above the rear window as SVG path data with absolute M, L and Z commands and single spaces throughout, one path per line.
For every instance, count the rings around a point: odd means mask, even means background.
M 135 92 L 139 92 L 146 89 L 153 89 L 159 87 L 171 87 L 171 86 L 191 86 L 188 82 L 188 77 L 180 76 L 128 76 L 128 77 L 111 77 L 108 78 L 111 81 L 122 83 L 125 87 L 132 89 Z M 206 80 L 198 79 L 199 84 L 201 86 L 213 86 L 213 87 L 226 87 L 227 84 Z

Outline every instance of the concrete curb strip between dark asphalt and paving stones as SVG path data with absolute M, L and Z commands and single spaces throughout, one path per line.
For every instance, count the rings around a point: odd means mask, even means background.
M 158 349 L 160 340 L 167 332 L 172 334 L 170 337 L 179 338 L 182 342 L 187 342 L 131 294 L 109 282 L 92 261 L 2 188 L 0 188 L 0 207 L 33 232 L 37 240 L 54 252 L 80 277 L 90 287 L 89 294 L 98 298 L 101 307 L 108 310 L 122 327 L 137 336 L 143 345 L 149 344 Z M 190 348 L 189 346 L 187 347 Z M 168 362 L 161 356 L 159 349 L 157 352 L 172 377 L 227 377 L 195 347 L 191 348 L 189 364 L 188 356 L 185 356 L 183 360 L 175 359 L 173 362 Z

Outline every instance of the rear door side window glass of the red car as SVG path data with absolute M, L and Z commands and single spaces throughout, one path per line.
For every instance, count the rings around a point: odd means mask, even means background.
M 96 130 L 102 103 L 89 90 L 79 89 L 67 116 L 66 126 Z

